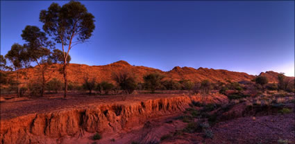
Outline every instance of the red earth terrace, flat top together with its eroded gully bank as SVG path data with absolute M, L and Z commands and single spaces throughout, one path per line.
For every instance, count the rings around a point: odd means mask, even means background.
M 142 127 L 146 121 L 179 114 L 185 111 L 192 101 L 201 100 L 221 104 L 228 102 L 226 96 L 219 94 L 205 98 L 200 95 L 133 94 L 71 96 L 67 100 L 47 97 L 1 102 L 0 143 L 67 143 L 85 138 L 89 141 L 95 132 L 99 132 L 103 138 L 120 133 L 123 137 L 129 134 L 135 138 L 128 132 Z M 149 127 L 156 125 L 151 123 Z M 167 127 L 162 127 L 162 131 L 168 132 L 169 129 L 165 130 Z M 138 132 L 144 133 L 149 130 L 152 129 L 139 129 Z M 157 129 L 154 132 L 151 133 L 151 137 L 153 134 L 160 136 Z M 126 140 L 130 141 L 133 138 Z M 146 141 L 149 140 L 151 138 L 147 137 Z

